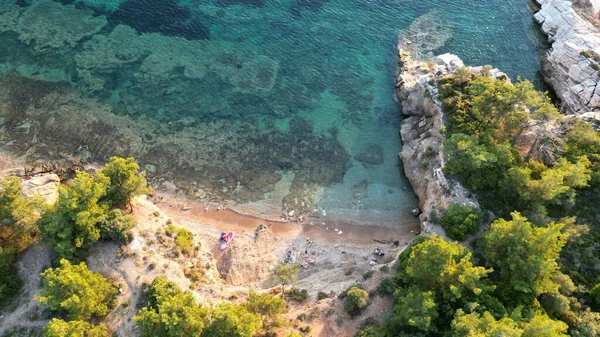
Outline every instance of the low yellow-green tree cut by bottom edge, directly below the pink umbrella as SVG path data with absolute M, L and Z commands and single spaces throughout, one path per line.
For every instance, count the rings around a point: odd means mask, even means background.
M 252 337 L 262 327 L 259 315 L 231 303 L 218 305 L 211 318 L 202 337 Z

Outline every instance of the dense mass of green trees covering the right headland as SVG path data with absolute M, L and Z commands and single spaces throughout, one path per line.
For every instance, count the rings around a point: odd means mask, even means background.
M 432 221 L 473 243 L 415 240 L 380 287 L 393 311 L 357 336 L 597 336 L 600 133 L 488 68 L 438 86 L 444 173 L 481 210 L 453 204 Z

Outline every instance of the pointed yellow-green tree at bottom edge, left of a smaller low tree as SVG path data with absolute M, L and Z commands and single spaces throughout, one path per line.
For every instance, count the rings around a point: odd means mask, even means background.
M 200 336 L 208 319 L 194 295 L 159 276 L 147 291 L 148 303 L 133 317 L 144 337 Z

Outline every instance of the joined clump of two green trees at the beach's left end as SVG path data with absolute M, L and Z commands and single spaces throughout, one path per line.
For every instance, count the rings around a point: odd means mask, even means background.
M 56 204 L 39 221 L 57 259 L 82 260 L 101 238 L 131 241 L 135 221 L 115 208 L 125 208 L 131 197 L 147 191 L 138 170 L 132 158 L 113 157 L 96 175 L 80 171 L 60 187 Z

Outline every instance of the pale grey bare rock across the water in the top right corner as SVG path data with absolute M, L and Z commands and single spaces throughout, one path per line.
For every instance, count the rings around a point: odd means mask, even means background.
M 535 21 L 552 48 L 542 60 L 542 73 L 568 114 L 600 111 L 599 0 L 538 0 Z

